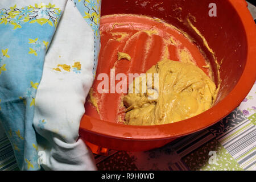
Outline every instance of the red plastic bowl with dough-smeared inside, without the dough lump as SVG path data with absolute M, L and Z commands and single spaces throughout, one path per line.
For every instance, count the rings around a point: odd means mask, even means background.
M 234 110 L 246 97 L 253 85 L 255 75 L 255 24 L 246 7 L 246 2 L 216 1 L 217 16 L 208 15 L 208 7 L 212 1 L 180 1 L 180 0 L 137 0 L 126 1 L 102 0 L 101 9 L 101 52 L 99 56 L 97 75 L 109 74 L 114 66 L 117 52 L 126 52 L 133 57 L 132 63 L 121 61 L 116 65 L 117 73 L 142 73 L 156 64 L 163 53 L 163 38 L 166 34 L 173 35 L 191 52 L 197 65 L 204 69 L 204 60 L 208 60 L 213 71 L 214 81 L 218 85 L 218 69 L 215 58 L 220 64 L 220 92 L 216 104 L 204 113 L 184 121 L 158 126 L 127 126 L 118 123 L 118 110 L 121 94 L 105 94 L 100 100 L 100 115 L 96 109 L 86 102 L 86 113 L 82 117 L 80 135 L 89 143 L 113 150 L 143 151 L 163 146 L 171 140 L 187 134 L 203 130 L 220 121 Z M 179 28 L 191 37 L 189 42 L 179 32 L 172 28 L 163 28 L 162 23 L 144 18 L 122 16 L 113 18 L 113 14 L 137 14 L 151 18 L 159 18 L 166 23 Z M 188 24 L 188 20 L 199 30 L 201 35 Z M 162 36 L 148 35 L 144 32 L 133 36 L 138 31 L 130 28 L 127 22 L 134 26 L 158 28 Z M 112 32 L 126 32 L 127 40 L 109 42 Z M 132 37 L 132 38 L 131 38 Z M 204 37 L 204 38 L 203 38 Z M 119 37 L 117 37 L 119 38 Z M 205 40 L 207 44 L 205 43 Z M 150 40 L 149 55 L 143 55 L 145 43 Z M 127 44 L 129 42 L 129 44 Z M 169 59 L 179 60 L 174 53 L 175 46 L 168 47 Z M 200 51 L 199 51 L 200 50 Z M 214 52 L 214 56 L 212 54 Z M 96 75 L 96 78 L 97 78 Z M 98 81 L 93 88 L 97 89 Z

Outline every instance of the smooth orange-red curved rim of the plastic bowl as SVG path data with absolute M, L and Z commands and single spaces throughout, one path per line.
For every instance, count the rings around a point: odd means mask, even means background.
M 245 0 L 228 0 L 228 2 L 240 16 L 247 40 L 247 60 L 245 68 L 240 80 L 238 80 L 236 86 L 228 96 L 204 113 L 183 121 L 165 125 L 127 127 L 127 125 L 102 121 L 84 114 L 81 119 L 80 130 L 95 135 L 122 140 L 171 139 L 206 129 L 236 109 L 236 107 L 241 104 L 242 100 L 250 92 L 256 80 L 256 73 L 254 70 L 256 66 L 254 56 L 254 53 L 256 52 L 256 26 L 249 10 L 247 9 L 247 3 Z M 218 110 L 221 110 L 221 112 L 218 113 Z M 201 122 L 202 118 L 207 118 L 207 121 Z M 102 122 L 104 122 L 104 124 L 102 124 Z

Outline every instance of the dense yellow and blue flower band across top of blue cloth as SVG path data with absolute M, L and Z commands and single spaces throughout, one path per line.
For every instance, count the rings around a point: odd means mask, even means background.
M 29 5 L 20 9 L 15 5 L 10 9 L 0 9 L 0 24 L 12 24 L 14 30 L 22 28 L 22 24 L 26 22 L 40 25 L 48 23 L 50 26 L 56 27 L 60 15 L 61 10 L 51 3 L 48 5 L 35 3 L 34 6 Z

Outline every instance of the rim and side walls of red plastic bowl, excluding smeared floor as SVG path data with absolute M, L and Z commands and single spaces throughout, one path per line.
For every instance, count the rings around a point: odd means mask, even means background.
M 138 14 L 163 19 L 187 32 L 214 64 L 212 55 L 195 30 L 180 20 L 195 16 L 193 25 L 215 53 L 222 80 L 216 105 L 184 121 L 158 126 L 127 126 L 84 115 L 80 135 L 89 143 L 113 150 L 144 151 L 161 147 L 177 137 L 203 130 L 226 117 L 249 93 L 254 84 L 256 27 L 244 0 L 215 1 L 217 16 L 210 17 L 212 1 L 102 0 L 102 16 Z M 175 11 L 181 7 L 182 11 Z M 180 10 L 181 10 L 180 9 Z M 216 76 L 217 71 L 213 70 Z M 109 104 L 111 106 L 111 103 Z M 106 106 L 106 108 L 109 108 Z M 111 108 L 111 107 L 110 107 Z M 106 109 L 108 111 L 108 109 Z M 94 149 L 93 149 L 94 150 Z

